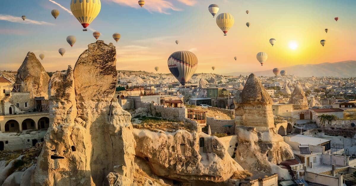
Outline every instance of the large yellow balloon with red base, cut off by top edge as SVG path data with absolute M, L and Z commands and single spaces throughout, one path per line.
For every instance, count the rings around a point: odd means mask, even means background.
M 70 10 L 75 18 L 83 26 L 83 31 L 87 31 L 89 24 L 98 16 L 101 9 L 100 0 L 71 0 Z

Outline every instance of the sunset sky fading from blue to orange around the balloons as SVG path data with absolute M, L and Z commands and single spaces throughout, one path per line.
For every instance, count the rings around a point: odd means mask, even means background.
M 48 72 L 74 66 L 95 42 L 95 30 L 101 33 L 99 40 L 116 46 L 118 70 L 153 72 L 158 66 L 159 72 L 169 73 L 167 59 L 179 50 L 198 57 L 196 73 L 212 73 L 212 66 L 214 73 L 224 74 L 356 60 L 355 0 L 146 0 L 143 8 L 137 0 L 101 0 L 101 11 L 88 32 L 70 14 L 69 3 L 9 0 L 0 6 L 0 71 L 16 71 L 28 51 L 45 55 L 41 63 Z M 227 36 L 209 13 L 210 4 L 219 5 L 218 14 L 234 16 Z M 51 15 L 53 9 L 60 12 L 57 19 Z M 121 34 L 118 43 L 113 33 Z M 73 47 L 66 41 L 68 35 L 77 38 Z M 270 38 L 277 40 L 273 47 Z M 326 40 L 324 47 L 321 39 Z M 58 53 L 62 47 L 63 57 Z M 268 54 L 263 66 L 256 59 L 258 52 Z

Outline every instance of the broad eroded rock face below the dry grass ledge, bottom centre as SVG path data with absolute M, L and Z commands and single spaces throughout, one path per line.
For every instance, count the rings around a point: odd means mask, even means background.
M 215 136 L 185 130 L 156 133 L 134 129 L 133 134 L 136 156 L 146 159 L 158 176 L 180 181 L 221 182 L 229 179 L 235 170 L 243 170 Z

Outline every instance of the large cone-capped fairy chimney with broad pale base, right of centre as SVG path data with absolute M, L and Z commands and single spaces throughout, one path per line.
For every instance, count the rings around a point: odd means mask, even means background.
M 254 174 L 272 173 L 273 164 L 294 159 L 289 145 L 274 127 L 272 103 L 255 74 L 248 77 L 242 92 L 235 94 L 238 142 L 234 159 Z

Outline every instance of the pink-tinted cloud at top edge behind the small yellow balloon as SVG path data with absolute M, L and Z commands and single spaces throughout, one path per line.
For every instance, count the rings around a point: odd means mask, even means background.
M 136 9 L 140 8 L 136 0 L 106 0 L 106 1 L 115 2 L 120 5 L 130 6 Z M 186 2 L 190 0 L 179 0 L 179 1 Z M 143 8 L 149 12 L 159 12 L 164 14 L 170 14 L 168 12 L 169 10 L 182 11 L 182 9 L 174 7 L 173 3 L 169 2 L 168 0 L 150 0 L 146 2 Z

